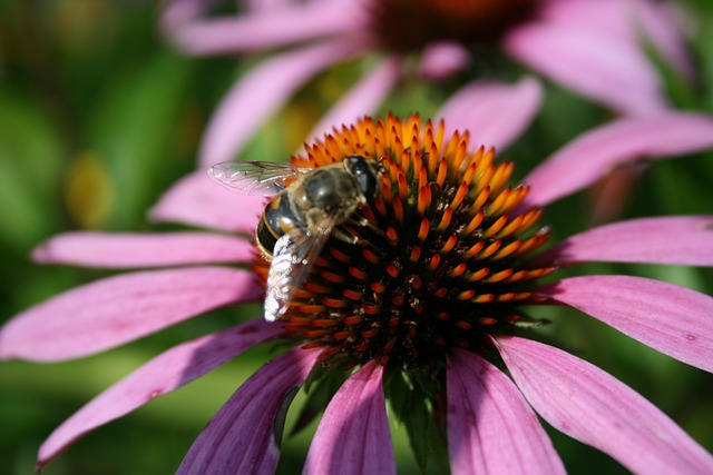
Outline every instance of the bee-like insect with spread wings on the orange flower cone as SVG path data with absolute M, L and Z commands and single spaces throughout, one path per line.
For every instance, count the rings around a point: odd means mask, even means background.
M 380 196 L 382 172 L 377 161 L 361 155 L 319 168 L 268 161 L 225 161 L 211 167 L 208 175 L 233 191 L 274 196 L 255 229 L 257 248 L 270 263 L 267 321 L 287 311 L 332 235 L 358 241 L 335 227 L 368 224 L 352 215 L 360 205 L 372 204 Z

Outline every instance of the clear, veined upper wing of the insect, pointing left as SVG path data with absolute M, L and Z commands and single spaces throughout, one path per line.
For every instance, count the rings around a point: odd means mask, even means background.
M 224 161 L 208 169 L 211 178 L 243 195 L 276 195 L 295 175 L 312 168 L 295 167 L 292 164 L 272 161 Z

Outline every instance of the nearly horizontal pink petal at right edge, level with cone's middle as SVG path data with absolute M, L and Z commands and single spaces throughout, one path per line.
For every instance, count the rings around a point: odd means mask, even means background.
M 538 257 L 547 265 L 585 261 L 713 266 L 713 217 L 644 218 L 572 236 Z

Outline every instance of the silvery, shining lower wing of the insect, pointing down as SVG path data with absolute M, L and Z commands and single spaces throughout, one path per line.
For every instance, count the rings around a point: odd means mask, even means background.
M 267 273 L 267 321 L 275 321 L 287 311 L 290 303 L 302 288 L 335 225 L 336 218 L 330 216 L 322 219 L 312 230 L 293 229 L 277 239 Z

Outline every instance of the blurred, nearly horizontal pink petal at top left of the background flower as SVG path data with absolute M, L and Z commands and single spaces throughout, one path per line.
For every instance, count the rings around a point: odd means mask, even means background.
M 166 33 L 191 55 L 251 52 L 365 29 L 358 2 L 294 4 L 271 11 L 198 20 Z

